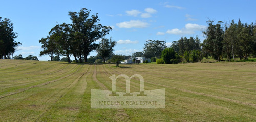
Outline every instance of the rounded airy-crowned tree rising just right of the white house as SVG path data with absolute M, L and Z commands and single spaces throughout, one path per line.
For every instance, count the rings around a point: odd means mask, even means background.
M 151 57 L 160 57 L 162 54 L 162 51 L 166 48 L 165 41 L 159 41 L 159 40 L 148 40 L 146 41 L 145 47 L 144 47 L 144 56 L 146 58 Z

